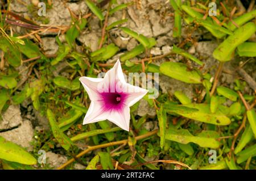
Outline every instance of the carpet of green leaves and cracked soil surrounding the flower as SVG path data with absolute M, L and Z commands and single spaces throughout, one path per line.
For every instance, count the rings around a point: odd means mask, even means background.
M 256 168 L 255 1 L 0 7 L 0 169 Z M 117 60 L 148 93 L 127 131 L 83 125 L 79 78 Z

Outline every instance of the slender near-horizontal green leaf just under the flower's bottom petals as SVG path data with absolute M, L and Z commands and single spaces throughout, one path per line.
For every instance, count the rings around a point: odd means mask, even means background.
M 94 130 L 89 131 L 89 132 L 77 134 L 76 136 L 71 138 L 71 141 L 82 140 L 84 138 L 88 138 L 90 136 L 95 136 L 97 134 L 116 132 L 116 131 L 120 131 L 120 130 L 121 130 L 121 128 L 119 128 L 119 127 L 108 128 L 108 129 L 94 129 Z

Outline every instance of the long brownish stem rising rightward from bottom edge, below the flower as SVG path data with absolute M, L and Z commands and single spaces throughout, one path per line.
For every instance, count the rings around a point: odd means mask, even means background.
M 137 137 L 135 137 L 135 140 L 141 140 L 143 138 L 150 137 L 150 136 L 156 134 L 157 132 L 158 132 L 158 129 L 156 129 L 155 131 L 143 134 L 141 136 L 137 136 Z M 106 148 L 106 147 L 114 146 L 114 145 L 127 144 L 127 142 L 128 142 L 128 140 L 121 140 L 121 141 L 109 142 L 108 144 L 101 144 L 101 145 L 91 146 L 88 149 L 86 149 L 86 150 L 82 151 L 81 153 L 79 153 L 78 155 L 76 155 L 76 158 L 80 158 L 82 155 L 84 155 L 84 154 L 86 154 L 86 153 L 88 153 L 89 151 L 92 151 L 92 150 L 96 150 L 96 149 L 99 149 L 99 148 Z M 64 169 L 66 166 L 68 166 L 73 161 L 75 161 L 74 158 L 69 159 L 69 161 L 67 161 L 66 163 L 64 163 L 60 167 L 58 167 L 57 170 Z

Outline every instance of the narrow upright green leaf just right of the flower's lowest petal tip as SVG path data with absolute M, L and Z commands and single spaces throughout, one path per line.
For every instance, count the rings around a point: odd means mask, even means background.
M 163 149 L 164 142 L 166 141 L 166 111 L 163 110 L 163 106 L 161 105 L 160 110 L 156 110 L 156 114 L 158 115 L 158 124 L 160 128 L 160 147 Z

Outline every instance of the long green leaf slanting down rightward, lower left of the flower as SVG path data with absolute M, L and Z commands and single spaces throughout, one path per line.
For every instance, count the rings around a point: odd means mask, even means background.
M 63 132 L 61 132 L 52 111 L 49 109 L 47 109 L 47 117 L 49 124 L 51 125 L 53 136 L 65 150 L 68 150 L 72 145 L 72 141 Z

